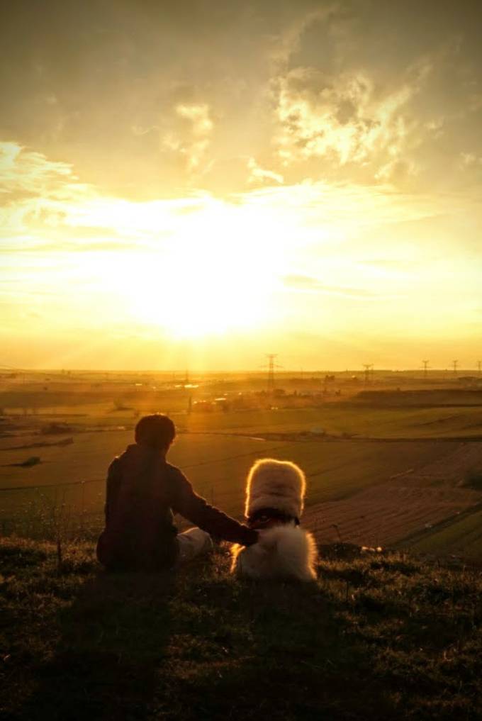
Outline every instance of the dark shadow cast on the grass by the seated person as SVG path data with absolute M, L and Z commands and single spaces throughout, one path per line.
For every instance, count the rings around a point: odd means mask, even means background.
M 45 720 L 141 719 L 169 641 L 169 573 L 97 572 L 59 611 L 58 644 L 39 665 L 19 717 Z

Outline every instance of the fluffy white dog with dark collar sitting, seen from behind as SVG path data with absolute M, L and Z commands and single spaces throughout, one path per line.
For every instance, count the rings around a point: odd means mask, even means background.
M 249 578 L 316 578 L 313 536 L 300 528 L 306 481 L 290 461 L 265 458 L 252 466 L 246 482 L 245 516 L 259 530 L 258 543 L 233 546 L 231 572 Z

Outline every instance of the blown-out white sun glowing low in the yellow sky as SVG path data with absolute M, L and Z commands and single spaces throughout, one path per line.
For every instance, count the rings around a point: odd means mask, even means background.
M 274 212 L 215 199 L 182 211 L 144 210 L 140 218 L 112 213 L 109 224 L 132 228 L 133 241 L 104 264 L 97 255 L 95 272 L 115 297 L 120 322 L 200 338 L 279 319 L 289 231 Z

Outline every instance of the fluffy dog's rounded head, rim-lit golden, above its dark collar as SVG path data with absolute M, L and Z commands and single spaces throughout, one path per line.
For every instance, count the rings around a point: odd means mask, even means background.
M 256 461 L 246 484 L 246 518 L 261 508 L 276 508 L 300 518 L 305 497 L 305 475 L 291 461 L 263 458 Z

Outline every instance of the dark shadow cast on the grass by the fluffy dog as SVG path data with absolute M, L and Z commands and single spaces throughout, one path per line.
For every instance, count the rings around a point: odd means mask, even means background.
M 197 593 L 212 620 L 195 658 L 178 650 L 170 693 L 156 693 L 149 719 L 365 721 L 367 707 L 372 720 L 390 718 L 316 584 L 221 578 Z

